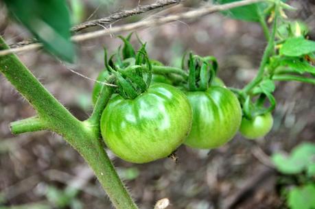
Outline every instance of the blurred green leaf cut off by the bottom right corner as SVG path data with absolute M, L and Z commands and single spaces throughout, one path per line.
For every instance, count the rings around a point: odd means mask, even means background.
M 291 209 L 315 208 L 315 185 L 307 184 L 303 187 L 294 187 L 288 195 L 288 205 Z

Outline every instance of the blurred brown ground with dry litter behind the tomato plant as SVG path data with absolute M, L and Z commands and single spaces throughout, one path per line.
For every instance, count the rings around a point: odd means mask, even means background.
M 154 1 L 73 0 L 73 24 L 99 19 L 118 11 Z M 202 2 L 207 3 L 207 2 Z M 202 6 L 201 5 L 199 6 Z M 315 39 L 315 2 L 288 1 L 298 10 L 289 12 L 310 27 Z M 154 10 L 113 25 L 190 10 Z M 162 10 L 160 10 L 162 11 Z M 88 29 L 89 30 L 89 29 Z M 0 2 L 0 33 L 9 44 L 32 37 L 8 19 Z M 186 50 L 200 56 L 215 56 L 219 77 L 226 86 L 242 88 L 257 73 L 266 39 L 257 23 L 236 21 L 220 13 L 191 21 L 178 21 L 137 31 L 148 42 L 150 58 L 178 66 Z M 126 35 L 126 34 L 123 34 Z M 132 42 L 137 44 L 137 38 Z M 75 116 L 91 114 L 93 82 L 69 71 L 95 79 L 103 68 L 103 47 L 110 53 L 121 45 L 115 36 L 87 40 L 77 45 L 78 57 L 69 65 L 43 50 L 18 54 L 19 58 Z M 178 163 L 170 158 L 147 164 L 132 164 L 113 158 L 119 174 L 141 208 L 153 208 L 161 198 L 170 199 L 170 209 L 285 208 L 279 190 L 279 173 L 270 168 L 268 156 L 290 151 L 301 142 L 315 142 L 315 86 L 298 82 L 277 84 L 277 108 L 272 132 L 259 140 L 239 134 L 219 149 L 197 150 L 182 146 Z M 60 136 L 36 132 L 12 136 L 10 122 L 33 116 L 32 107 L 0 74 L 0 208 L 112 208 L 104 190 L 79 154 Z

